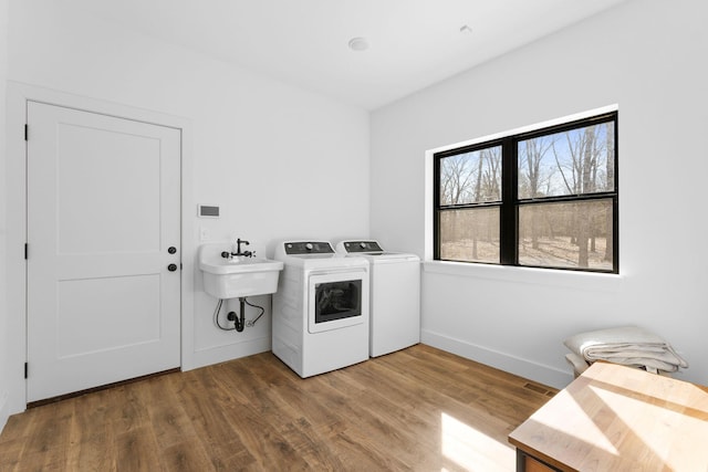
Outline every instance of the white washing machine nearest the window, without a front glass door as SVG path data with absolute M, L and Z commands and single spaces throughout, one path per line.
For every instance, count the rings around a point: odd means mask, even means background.
M 420 258 L 385 252 L 376 241 L 342 241 L 336 251 L 369 262 L 371 356 L 420 343 Z

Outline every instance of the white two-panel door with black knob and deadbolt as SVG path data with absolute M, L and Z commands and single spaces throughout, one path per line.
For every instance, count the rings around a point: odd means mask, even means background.
M 28 102 L 28 401 L 179 366 L 180 141 Z

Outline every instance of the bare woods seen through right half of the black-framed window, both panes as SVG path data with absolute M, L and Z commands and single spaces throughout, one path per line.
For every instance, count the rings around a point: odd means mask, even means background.
M 614 122 L 519 141 L 519 199 L 614 190 Z M 612 270 L 612 200 L 521 204 L 521 265 Z

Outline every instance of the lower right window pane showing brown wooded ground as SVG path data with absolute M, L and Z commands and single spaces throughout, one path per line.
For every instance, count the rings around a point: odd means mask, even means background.
M 613 270 L 612 199 L 519 208 L 519 264 Z

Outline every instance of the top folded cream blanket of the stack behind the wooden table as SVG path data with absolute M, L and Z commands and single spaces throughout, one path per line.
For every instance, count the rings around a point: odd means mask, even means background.
M 581 333 L 565 339 L 563 344 L 591 363 L 610 360 L 645 367 L 647 370 L 666 371 L 688 367 L 688 363 L 666 340 L 637 326 Z

